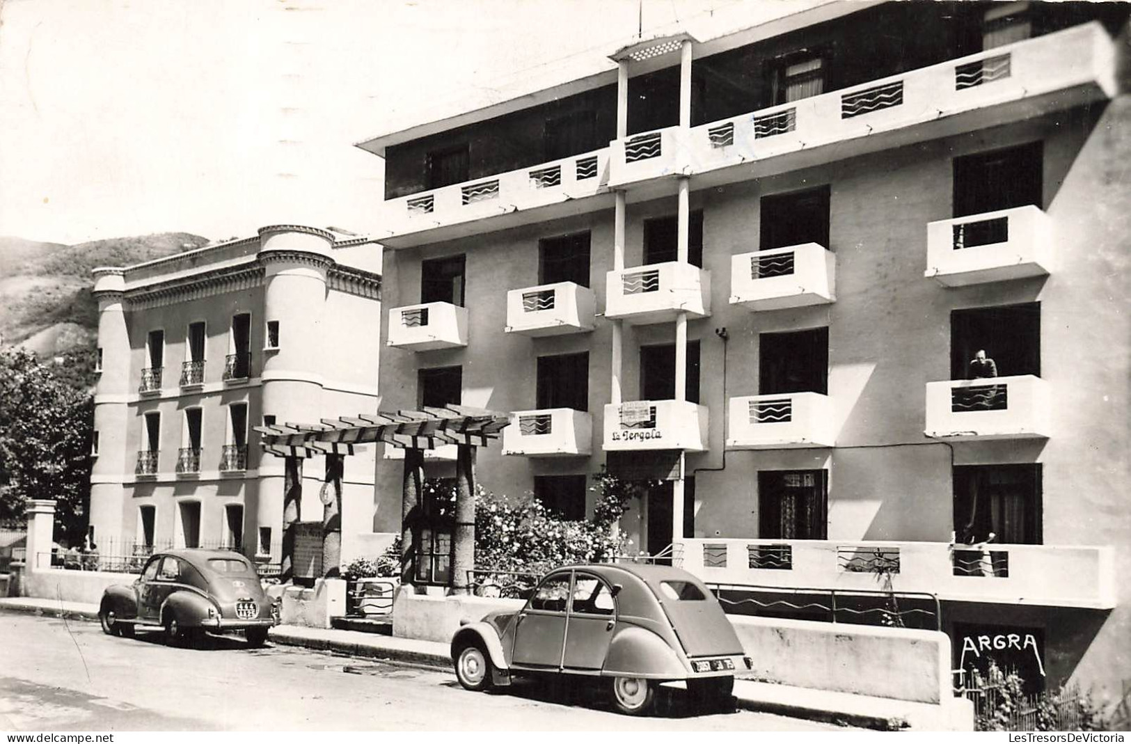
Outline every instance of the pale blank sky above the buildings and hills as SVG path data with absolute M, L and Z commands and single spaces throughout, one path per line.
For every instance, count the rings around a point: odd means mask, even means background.
M 375 231 L 353 146 L 649 29 L 780 0 L 0 0 L 0 235 Z M 596 51 L 595 51 L 596 50 Z

